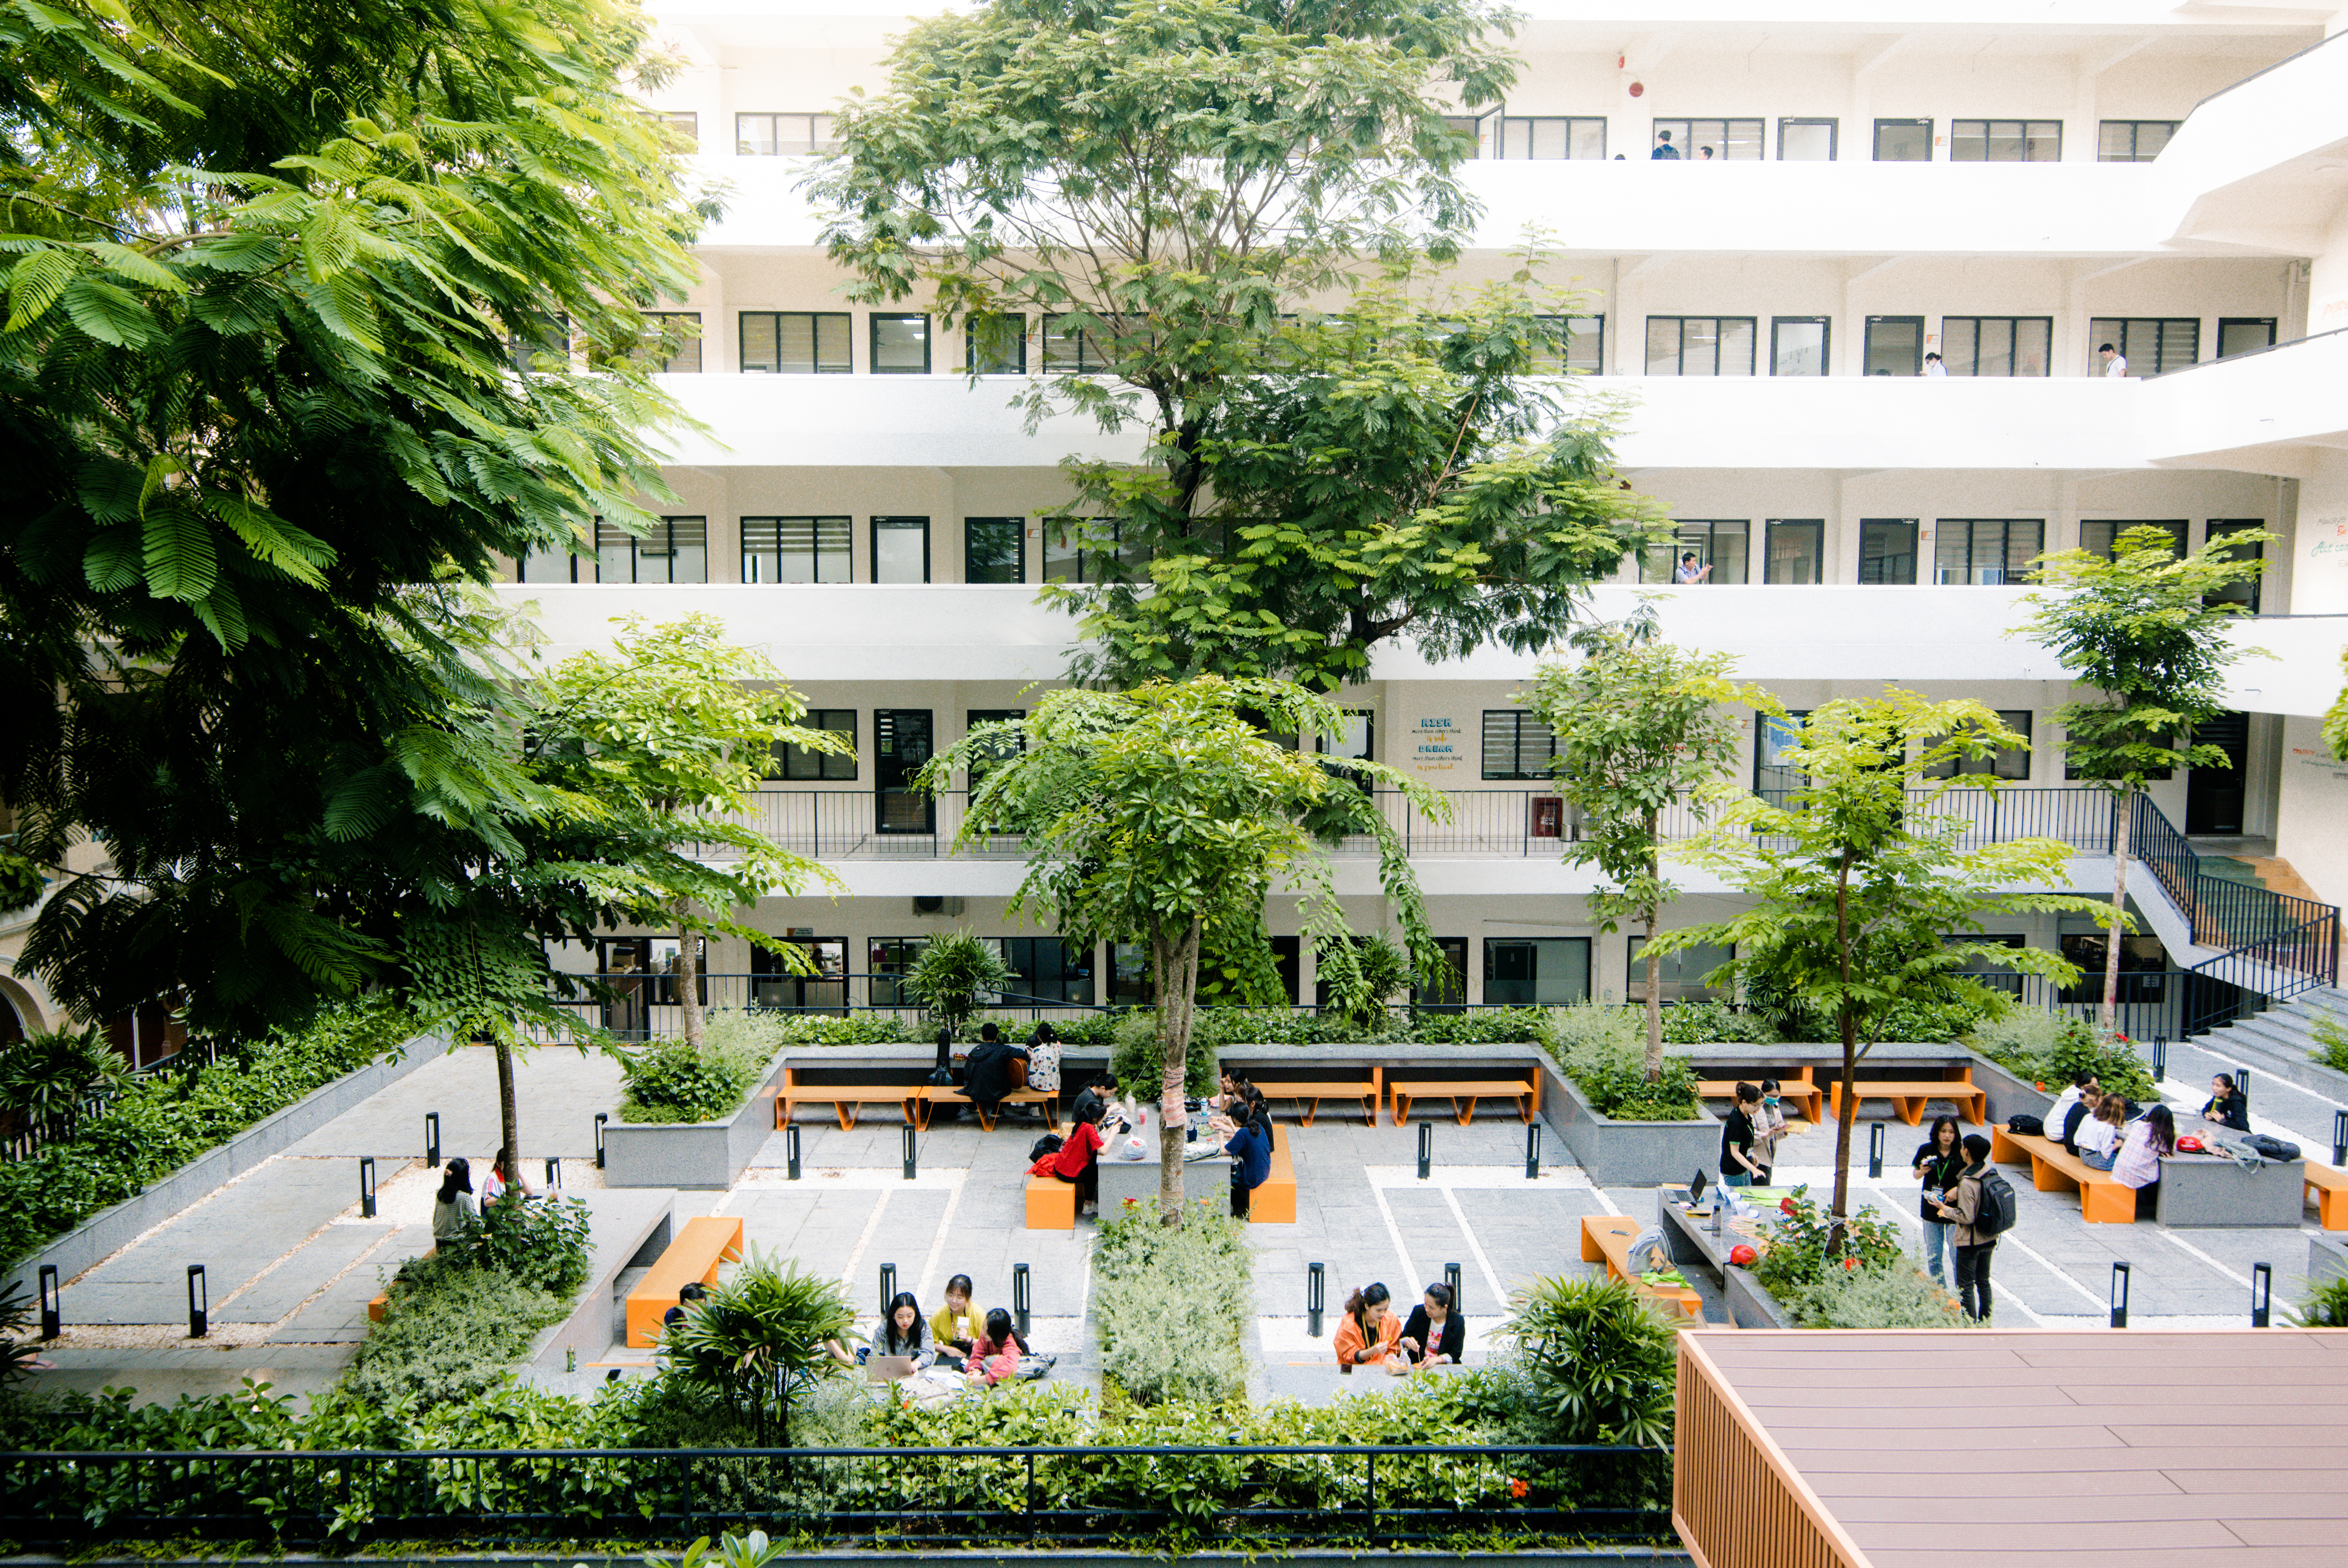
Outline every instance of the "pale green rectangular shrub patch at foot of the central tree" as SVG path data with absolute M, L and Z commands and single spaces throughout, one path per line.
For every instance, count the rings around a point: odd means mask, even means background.
M 1167 1230 L 1153 1207 L 1108 1216 L 1092 1246 L 1101 1376 L 1139 1404 L 1247 1392 L 1240 1336 L 1256 1319 L 1247 1223 L 1205 1204 Z

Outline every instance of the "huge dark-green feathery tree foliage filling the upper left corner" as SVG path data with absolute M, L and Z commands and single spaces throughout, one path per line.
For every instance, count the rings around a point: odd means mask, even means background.
M 697 216 L 643 42 L 589 0 L 0 14 L 0 798 L 73 1012 L 404 984 L 552 822 L 460 589 L 664 493 L 627 350 Z

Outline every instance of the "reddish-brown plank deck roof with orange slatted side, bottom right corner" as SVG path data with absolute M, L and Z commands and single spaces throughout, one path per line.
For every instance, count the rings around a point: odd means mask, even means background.
M 1827 1549 L 1794 1556 L 2348 1568 L 2348 1331 L 1681 1340 L 1684 1411 L 1695 1371 L 1714 1385 L 1698 1404 L 1716 1392 L 1721 1415 L 1759 1434 L 1759 1465 L 1714 1469 L 1712 1483 L 1784 1483 Z M 1730 1516 L 1681 1498 L 1700 1561 L 1770 1563 Z

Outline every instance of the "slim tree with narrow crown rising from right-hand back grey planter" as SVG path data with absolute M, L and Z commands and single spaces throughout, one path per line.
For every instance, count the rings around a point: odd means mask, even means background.
M 1646 927 L 1646 1082 L 1662 1080 L 1662 951 L 1655 930 L 1679 887 L 1662 873 L 1662 815 L 1698 822 L 1735 791 L 1721 775 L 1742 725 L 1723 704 L 1747 697 L 1728 681 L 1733 657 L 1691 655 L 1653 641 L 1648 606 L 1630 624 L 1573 634 L 1580 664 L 1543 664 L 1531 707 L 1557 737 L 1557 793 L 1576 810 L 1566 864 L 1597 866 L 1611 887 L 1585 894 L 1601 932 Z

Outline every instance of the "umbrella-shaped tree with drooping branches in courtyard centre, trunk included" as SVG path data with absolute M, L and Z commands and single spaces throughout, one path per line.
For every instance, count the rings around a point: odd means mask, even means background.
M 953 770 L 1024 739 L 986 768 L 960 838 L 1026 836 L 1028 869 L 1010 908 L 1050 918 L 1061 941 L 1148 944 L 1165 1063 L 1158 1204 L 1167 1225 L 1183 1211 L 1183 1070 L 1207 939 L 1242 953 L 1259 984 L 1277 986 L 1263 901 L 1294 890 L 1320 967 L 1350 1005 L 1364 976 L 1320 840 L 1364 836 L 1378 845 L 1378 883 L 1418 974 L 1444 972 L 1402 836 L 1357 784 L 1397 789 L 1435 819 L 1446 819 L 1449 805 L 1381 763 L 1313 756 L 1268 735 L 1334 735 L 1341 725 L 1336 707 L 1282 681 L 1071 688 L 1045 692 L 1017 725 L 974 728 L 920 775 L 925 789 L 951 789 Z

